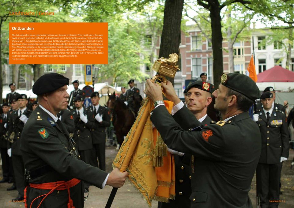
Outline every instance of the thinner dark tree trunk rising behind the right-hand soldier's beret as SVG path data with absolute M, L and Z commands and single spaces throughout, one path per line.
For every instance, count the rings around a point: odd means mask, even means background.
M 220 76 L 224 71 L 223 66 L 223 51 L 222 42 L 223 36 L 221 34 L 221 17 L 220 8 L 218 6 L 210 5 L 210 19 L 211 19 L 211 36 L 212 36 L 212 50 L 213 50 L 213 84 L 214 88 L 218 89 L 220 84 Z

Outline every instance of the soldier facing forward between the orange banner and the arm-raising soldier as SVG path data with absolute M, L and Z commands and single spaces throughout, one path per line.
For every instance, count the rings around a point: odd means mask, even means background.
M 187 92 L 187 108 L 183 107 L 183 102 L 174 106 L 171 115 L 183 130 L 193 128 L 190 122 L 187 122 L 186 116 L 189 116 L 189 110 L 196 119 L 207 126 L 212 121 L 206 114 L 207 106 L 211 103 L 211 85 L 207 82 L 194 81 L 186 89 Z M 188 113 L 187 113 L 188 112 Z M 186 121 L 186 122 L 185 122 Z M 181 153 L 168 148 L 168 151 L 174 154 L 175 159 L 175 200 L 169 203 L 158 202 L 158 208 L 188 208 L 190 207 L 191 195 L 191 167 L 197 167 L 194 155 Z

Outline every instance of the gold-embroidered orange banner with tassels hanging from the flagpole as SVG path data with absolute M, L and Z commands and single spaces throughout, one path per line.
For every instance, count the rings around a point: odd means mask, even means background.
M 164 101 L 164 104 L 171 113 L 173 103 Z M 129 172 L 129 180 L 149 207 L 153 199 L 168 202 L 175 198 L 174 158 L 152 126 L 150 113 L 153 108 L 152 102 L 146 98 L 112 163 L 120 171 Z

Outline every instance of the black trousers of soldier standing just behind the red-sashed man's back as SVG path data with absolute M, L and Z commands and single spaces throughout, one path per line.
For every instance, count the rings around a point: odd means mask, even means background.
M 18 193 L 24 196 L 25 189 L 25 165 L 21 155 L 12 155 L 12 165 L 16 189 Z

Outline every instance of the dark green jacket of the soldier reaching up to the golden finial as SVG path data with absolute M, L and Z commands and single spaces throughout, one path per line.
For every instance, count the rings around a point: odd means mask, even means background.
M 192 113 L 187 118 L 194 127 L 201 126 Z M 151 121 L 169 148 L 195 156 L 192 208 L 252 207 L 248 192 L 261 152 L 261 135 L 248 112 L 191 132 L 179 127 L 164 106 L 153 110 Z

